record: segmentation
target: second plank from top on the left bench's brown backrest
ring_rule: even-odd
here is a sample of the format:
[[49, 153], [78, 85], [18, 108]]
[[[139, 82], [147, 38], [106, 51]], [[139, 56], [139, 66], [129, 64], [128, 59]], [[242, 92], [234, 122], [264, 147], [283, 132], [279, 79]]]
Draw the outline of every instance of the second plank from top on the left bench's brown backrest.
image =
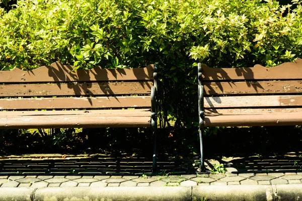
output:
[[153, 82], [2, 84], [0, 97], [150, 94]]

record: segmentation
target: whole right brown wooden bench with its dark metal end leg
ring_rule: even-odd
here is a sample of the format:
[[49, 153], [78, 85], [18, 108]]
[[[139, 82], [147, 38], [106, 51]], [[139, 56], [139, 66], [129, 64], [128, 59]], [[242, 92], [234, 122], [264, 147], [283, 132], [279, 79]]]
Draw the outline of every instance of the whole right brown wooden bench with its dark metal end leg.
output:
[[204, 127], [302, 125], [302, 59], [266, 68], [198, 64], [200, 163]]

